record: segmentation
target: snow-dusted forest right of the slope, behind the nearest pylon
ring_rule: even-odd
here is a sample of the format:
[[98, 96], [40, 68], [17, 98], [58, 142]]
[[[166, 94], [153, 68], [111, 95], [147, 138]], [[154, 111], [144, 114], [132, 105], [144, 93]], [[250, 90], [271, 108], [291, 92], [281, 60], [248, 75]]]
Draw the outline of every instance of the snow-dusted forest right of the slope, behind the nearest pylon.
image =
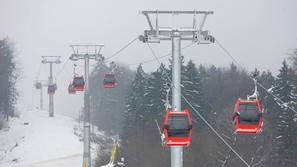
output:
[[[297, 166], [294, 158], [297, 114], [288, 108], [297, 106], [296, 65], [297, 50], [289, 62], [282, 62], [276, 76], [270, 71], [254, 71], [258, 73], [258, 82], [281, 100], [258, 88], [264, 110], [264, 130], [260, 135], [233, 133], [235, 101], [238, 97], [246, 98], [254, 89], [250, 73], [235, 64], [216, 67], [183, 62], [182, 94], [251, 166]], [[107, 71], [106, 65], [98, 65], [92, 83], [98, 83], [102, 78], [99, 76]], [[99, 129], [120, 135], [121, 156], [125, 157], [127, 166], [169, 166], [170, 149], [161, 146], [156, 121], [162, 126], [171, 66], [161, 64], [156, 71], [146, 73], [142, 65], [135, 72], [118, 65], [116, 77], [119, 84], [113, 90], [104, 90], [101, 85], [91, 86], [91, 99], [95, 102], [93, 121]], [[94, 89], [100, 93], [92, 91]], [[190, 109], [194, 121], [191, 145], [184, 149], [185, 166], [245, 166], [185, 100], [182, 100], [182, 108]], [[107, 163], [109, 155], [105, 156], [97, 166]]]

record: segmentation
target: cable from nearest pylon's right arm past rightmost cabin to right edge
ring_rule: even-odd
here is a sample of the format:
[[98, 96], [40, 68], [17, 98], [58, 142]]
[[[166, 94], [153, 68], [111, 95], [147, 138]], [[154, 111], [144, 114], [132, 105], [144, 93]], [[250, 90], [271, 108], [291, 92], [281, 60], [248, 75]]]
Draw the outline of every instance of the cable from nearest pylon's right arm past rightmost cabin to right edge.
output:
[[[216, 43], [218, 44], [218, 46], [239, 66], [243, 69], [243, 66], [230, 54], [230, 52], [216, 39]], [[253, 79], [251, 76], [248, 76], [249, 78]], [[260, 86], [262, 89], [264, 89], [269, 95], [271, 95], [272, 97], [274, 97], [274, 100], [276, 99], [277, 101], [281, 102], [283, 106], [285, 106], [285, 102], [283, 100], [281, 100], [279, 97], [277, 97], [276, 95], [274, 95], [273, 93], [271, 93], [271, 91], [269, 91], [268, 89], [266, 89], [262, 84], [260, 84], [259, 82], [257, 82], [257, 85]], [[275, 101], [276, 101], [275, 100]], [[297, 111], [290, 107], [290, 106], [285, 106], [286, 108], [289, 108], [291, 111], [293, 111], [295, 114], [297, 114]]]

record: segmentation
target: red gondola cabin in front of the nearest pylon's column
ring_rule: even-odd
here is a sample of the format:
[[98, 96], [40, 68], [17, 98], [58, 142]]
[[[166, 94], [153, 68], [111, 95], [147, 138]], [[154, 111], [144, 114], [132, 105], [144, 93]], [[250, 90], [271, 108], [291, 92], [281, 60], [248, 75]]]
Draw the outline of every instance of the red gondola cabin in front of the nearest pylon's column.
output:
[[189, 111], [182, 112], [166, 111], [164, 119], [165, 145], [188, 146], [192, 136], [192, 119]]

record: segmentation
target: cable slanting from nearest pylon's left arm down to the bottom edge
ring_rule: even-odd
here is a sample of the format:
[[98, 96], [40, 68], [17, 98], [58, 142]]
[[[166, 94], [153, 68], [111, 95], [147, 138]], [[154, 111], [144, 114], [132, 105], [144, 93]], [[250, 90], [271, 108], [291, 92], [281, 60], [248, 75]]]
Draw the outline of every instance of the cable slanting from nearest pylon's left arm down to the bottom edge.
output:
[[[151, 46], [149, 45], [149, 43], [147, 43], [152, 55], [155, 57], [156, 61], [161, 65], [160, 60], [158, 59], [158, 57], [156, 56], [154, 50], [151, 48]], [[171, 79], [169, 78], [169, 76], [167, 75], [167, 73], [165, 73], [167, 79], [169, 81], [171, 81]], [[175, 87], [173, 87], [175, 89]], [[237, 151], [235, 149], [232, 148], [231, 145], [228, 144], [228, 142], [208, 123], [208, 121], [200, 114], [200, 112], [198, 110], [196, 110], [196, 108], [188, 101], [188, 99], [181, 94], [182, 98], [186, 101], [186, 103], [195, 111], [195, 113], [200, 117], [200, 119], [217, 135], [217, 137], [219, 139], [221, 139], [223, 141], [223, 143], [247, 166], [250, 167], [250, 165], [247, 163], [247, 161], [245, 161], [241, 155], [239, 155], [239, 153], [237, 153]]]

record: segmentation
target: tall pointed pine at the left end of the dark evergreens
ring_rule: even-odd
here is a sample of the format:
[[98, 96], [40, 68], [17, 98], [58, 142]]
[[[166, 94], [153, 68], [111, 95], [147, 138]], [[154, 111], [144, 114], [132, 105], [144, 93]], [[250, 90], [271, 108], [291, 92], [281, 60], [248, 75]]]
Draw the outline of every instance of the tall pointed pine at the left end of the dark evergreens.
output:
[[136, 70], [134, 80], [128, 92], [126, 101], [126, 111], [124, 116], [124, 127], [122, 132], [123, 152], [126, 160], [140, 165], [141, 159], [135, 159], [141, 154], [141, 142], [145, 131], [144, 127], [144, 109], [145, 109], [145, 87], [148, 75], [143, 71], [142, 65]]

